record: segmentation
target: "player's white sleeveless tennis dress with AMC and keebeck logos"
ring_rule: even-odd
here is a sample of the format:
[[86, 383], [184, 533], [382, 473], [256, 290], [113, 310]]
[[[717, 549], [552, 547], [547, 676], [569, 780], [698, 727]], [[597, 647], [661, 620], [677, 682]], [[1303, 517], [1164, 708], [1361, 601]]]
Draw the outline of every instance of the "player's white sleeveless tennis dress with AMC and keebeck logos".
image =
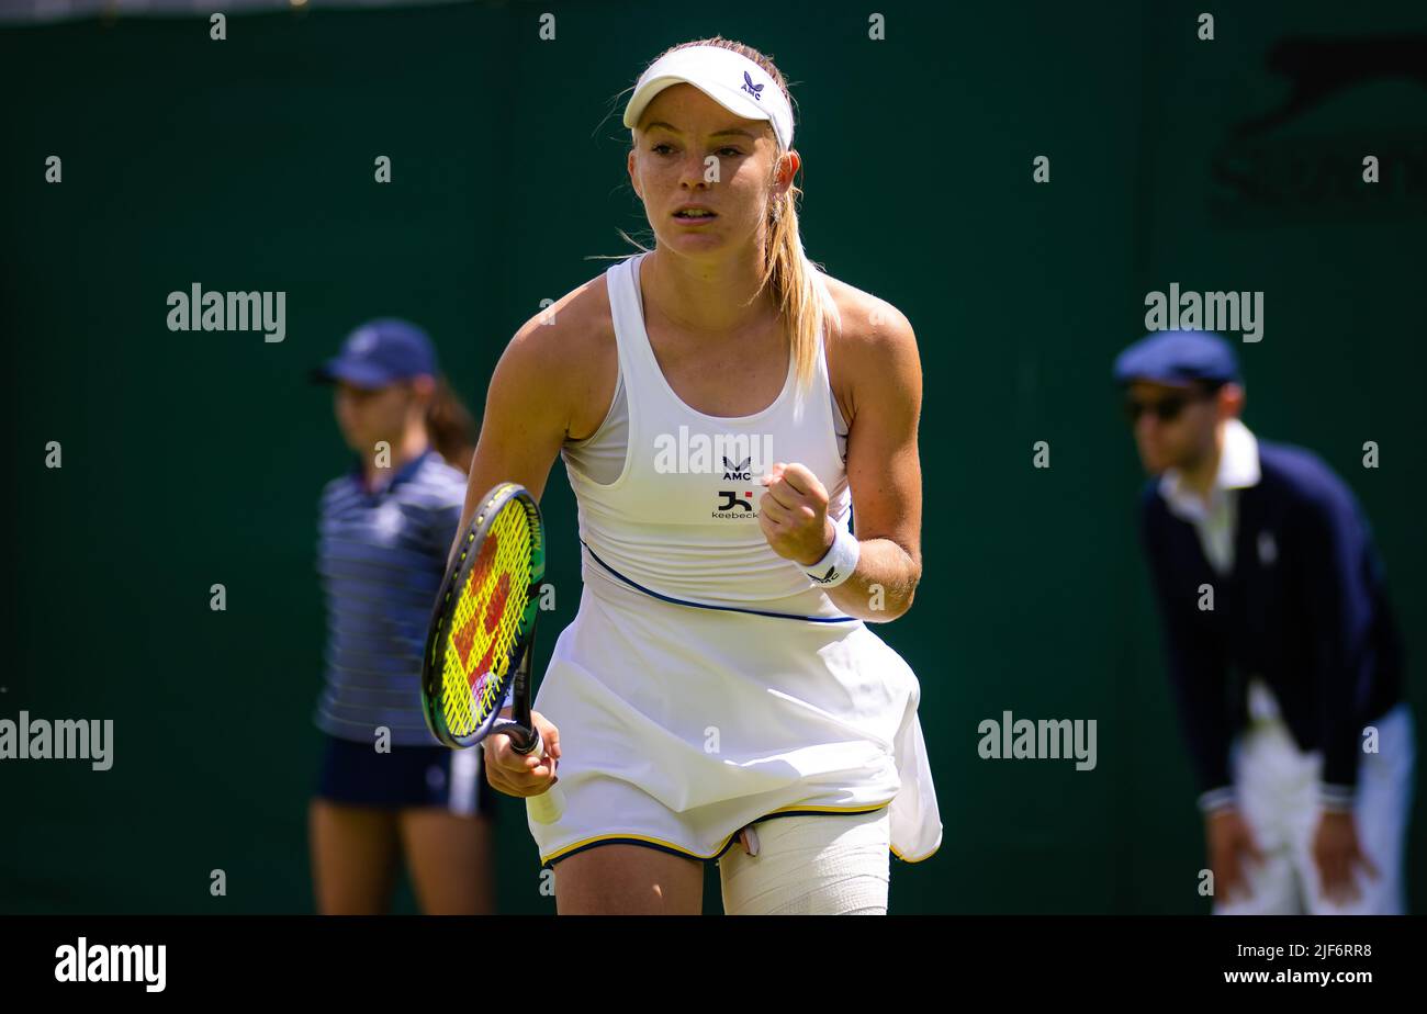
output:
[[748, 416], [698, 412], [659, 369], [639, 294], [644, 254], [605, 272], [624, 388], [626, 452], [592, 481], [561, 455], [579, 508], [579, 610], [552, 650], [535, 709], [559, 729], [565, 811], [531, 819], [541, 863], [602, 843], [691, 859], [786, 814], [889, 809], [906, 861], [940, 846], [936, 792], [906, 662], [842, 613], [758, 523], [758, 476], [802, 462], [842, 526], [850, 493], [822, 341], [798, 389]]

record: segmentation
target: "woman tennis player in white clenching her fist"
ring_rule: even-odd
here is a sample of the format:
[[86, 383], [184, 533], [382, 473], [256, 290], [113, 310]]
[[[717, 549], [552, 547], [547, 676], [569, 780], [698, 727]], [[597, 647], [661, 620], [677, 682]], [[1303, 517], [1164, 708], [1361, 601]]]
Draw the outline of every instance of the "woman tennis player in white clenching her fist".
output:
[[678, 46], [624, 124], [655, 247], [515, 334], [472, 464], [462, 529], [559, 452], [582, 543], [535, 699], [554, 760], [492, 736], [488, 779], [558, 770], [564, 814], [529, 827], [561, 914], [698, 914], [712, 860], [731, 914], [885, 913], [889, 849], [942, 833], [918, 680], [866, 626], [922, 575], [915, 337], [805, 255], [766, 57]]

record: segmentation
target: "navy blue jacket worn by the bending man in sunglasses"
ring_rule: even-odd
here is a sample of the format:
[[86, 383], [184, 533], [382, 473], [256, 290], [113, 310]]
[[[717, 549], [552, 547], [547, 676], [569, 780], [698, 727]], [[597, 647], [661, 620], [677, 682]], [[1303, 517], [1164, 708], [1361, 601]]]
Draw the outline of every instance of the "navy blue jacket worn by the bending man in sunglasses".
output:
[[[1401, 649], [1361, 508], [1314, 454], [1259, 441], [1260, 481], [1237, 491], [1234, 569], [1220, 576], [1194, 526], [1152, 479], [1140, 535], [1200, 792], [1232, 784], [1247, 677], [1279, 700], [1299, 747], [1323, 750], [1323, 789], [1351, 800], [1363, 726], [1401, 699]], [[1200, 585], [1214, 589], [1202, 610]]]

